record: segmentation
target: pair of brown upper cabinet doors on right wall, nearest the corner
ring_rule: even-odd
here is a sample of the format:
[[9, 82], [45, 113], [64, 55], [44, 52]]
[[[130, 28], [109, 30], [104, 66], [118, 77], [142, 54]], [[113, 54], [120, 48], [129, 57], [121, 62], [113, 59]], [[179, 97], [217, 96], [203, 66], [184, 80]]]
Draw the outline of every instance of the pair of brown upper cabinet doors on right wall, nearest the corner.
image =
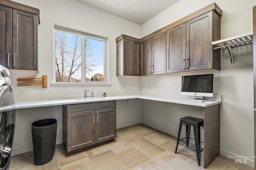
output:
[[166, 32], [141, 43], [140, 75], [166, 73]]

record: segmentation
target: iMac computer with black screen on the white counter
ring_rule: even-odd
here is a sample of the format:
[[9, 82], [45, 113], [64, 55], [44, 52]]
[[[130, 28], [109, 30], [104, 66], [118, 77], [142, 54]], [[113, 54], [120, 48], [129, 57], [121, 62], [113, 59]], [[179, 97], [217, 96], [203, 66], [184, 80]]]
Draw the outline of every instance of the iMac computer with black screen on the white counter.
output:
[[204, 97], [212, 97], [213, 74], [182, 76], [181, 94], [195, 96], [201, 100]]

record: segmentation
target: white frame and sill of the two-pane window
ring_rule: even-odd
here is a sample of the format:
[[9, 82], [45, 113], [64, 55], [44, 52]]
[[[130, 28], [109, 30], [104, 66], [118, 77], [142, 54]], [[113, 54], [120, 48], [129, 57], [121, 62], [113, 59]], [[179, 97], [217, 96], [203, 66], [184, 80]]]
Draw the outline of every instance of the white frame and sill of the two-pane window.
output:
[[[104, 42], [104, 81], [85, 81], [85, 66], [82, 64], [81, 68], [81, 81], [82, 82], [56, 82], [56, 36], [55, 36], [55, 31], [61, 31], [65, 33], [71, 33], [75, 35], [80, 35], [82, 36], [82, 44], [84, 44], [85, 38], [90, 38], [90, 39], [96, 39]], [[85, 58], [85, 46], [82, 45], [82, 63], [84, 63], [84, 58]], [[54, 25], [54, 80], [53, 83], [51, 83], [53, 86], [69, 86], [69, 85], [76, 85], [76, 86], [83, 86], [83, 85], [108, 85], [108, 38], [98, 36], [98, 35], [93, 35], [90, 33], [85, 33], [83, 31], [78, 31], [75, 29], [71, 29], [68, 27], [62, 27], [59, 25]]]

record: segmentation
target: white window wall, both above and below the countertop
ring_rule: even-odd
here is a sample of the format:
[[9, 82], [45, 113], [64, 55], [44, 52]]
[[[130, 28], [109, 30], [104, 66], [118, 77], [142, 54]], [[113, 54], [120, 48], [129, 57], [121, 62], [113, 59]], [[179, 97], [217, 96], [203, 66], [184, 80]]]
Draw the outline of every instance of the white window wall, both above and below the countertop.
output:
[[[12, 86], [17, 100], [43, 100], [51, 98], [82, 97], [88, 88], [94, 96], [106, 92], [108, 96], [140, 92], [140, 78], [116, 76], [116, 37], [126, 34], [140, 37], [136, 23], [103, 12], [76, 0], [14, 0], [40, 10], [39, 73], [11, 71]], [[54, 74], [54, 23], [108, 37], [109, 83], [111, 86], [51, 86]], [[48, 76], [48, 88], [40, 86], [17, 87], [17, 78]], [[127, 88], [130, 84], [130, 88]], [[90, 93], [89, 93], [90, 94]], [[121, 109], [126, 108], [126, 109]], [[117, 127], [140, 123], [140, 101], [117, 102]], [[31, 123], [45, 118], [58, 120], [57, 141], [62, 143], [62, 107], [37, 107], [16, 110], [16, 131], [12, 154], [32, 150]]]

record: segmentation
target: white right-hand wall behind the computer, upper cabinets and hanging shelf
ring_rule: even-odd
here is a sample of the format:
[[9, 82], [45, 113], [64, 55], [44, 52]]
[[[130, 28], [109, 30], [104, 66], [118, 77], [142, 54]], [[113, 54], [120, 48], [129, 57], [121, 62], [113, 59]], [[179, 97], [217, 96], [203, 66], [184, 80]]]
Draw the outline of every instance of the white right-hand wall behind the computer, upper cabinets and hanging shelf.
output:
[[[152, 33], [208, 4], [214, 0], [181, 0], [158, 16], [142, 25], [142, 37]], [[222, 9], [221, 39], [240, 35], [252, 31], [252, 7], [256, 1], [215, 0]], [[252, 45], [237, 47], [232, 50], [234, 64], [228, 61], [227, 51], [221, 52], [221, 71], [204, 73], [214, 74], [214, 94], [222, 95], [220, 109], [220, 154], [224, 156], [254, 156], [254, 111], [253, 111], [253, 53]], [[168, 95], [180, 92], [181, 76], [154, 76], [141, 78], [143, 93]], [[178, 121], [184, 116], [184, 109], [175, 110], [168, 105], [154, 102], [157, 109], [150, 109], [152, 102], [142, 101], [142, 123], [147, 123], [167, 133], [178, 133]], [[172, 105], [173, 106], [173, 105]], [[190, 108], [187, 114], [196, 114]], [[178, 114], [179, 113], [179, 114]], [[152, 115], [148, 117], [148, 115]], [[157, 118], [155, 116], [157, 115]], [[170, 115], [173, 115], [170, 117]], [[169, 117], [170, 123], [163, 118]], [[174, 123], [173, 123], [174, 122]], [[174, 124], [174, 125], [173, 125]], [[254, 160], [247, 160], [247, 164], [254, 166]]]

